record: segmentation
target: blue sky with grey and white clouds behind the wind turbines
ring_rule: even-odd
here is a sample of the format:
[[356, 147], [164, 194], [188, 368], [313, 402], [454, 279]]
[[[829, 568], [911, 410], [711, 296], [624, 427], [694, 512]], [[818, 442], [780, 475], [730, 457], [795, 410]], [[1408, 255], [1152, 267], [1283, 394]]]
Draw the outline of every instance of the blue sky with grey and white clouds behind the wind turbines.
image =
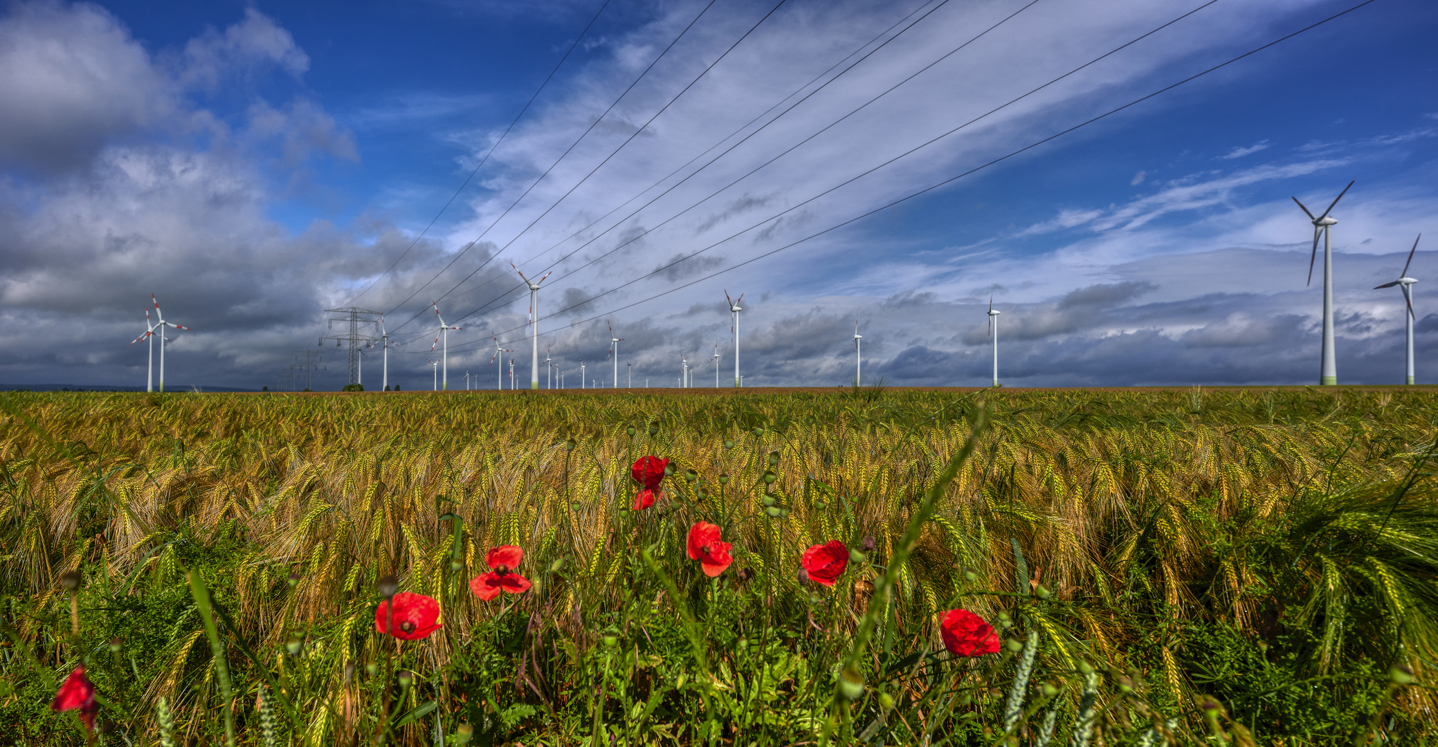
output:
[[1359, 3], [10, 3], [0, 385], [158, 379], [154, 294], [167, 388], [338, 389], [344, 307], [367, 389], [525, 386], [516, 267], [541, 386], [732, 386], [726, 293], [746, 386], [986, 385], [991, 305], [1008, 386], [1316, 384], [1350, 181], [1339, 382], [1426, 233], [1438, 384], [1438, 6]]

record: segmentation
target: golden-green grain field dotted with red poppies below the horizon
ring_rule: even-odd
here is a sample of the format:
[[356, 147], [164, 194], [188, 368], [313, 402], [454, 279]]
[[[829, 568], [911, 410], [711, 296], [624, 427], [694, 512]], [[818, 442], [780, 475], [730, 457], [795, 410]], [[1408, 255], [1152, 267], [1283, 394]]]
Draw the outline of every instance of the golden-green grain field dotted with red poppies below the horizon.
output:
[[1426, 389], [0, 408], [0, 744], [1438, 741]]

